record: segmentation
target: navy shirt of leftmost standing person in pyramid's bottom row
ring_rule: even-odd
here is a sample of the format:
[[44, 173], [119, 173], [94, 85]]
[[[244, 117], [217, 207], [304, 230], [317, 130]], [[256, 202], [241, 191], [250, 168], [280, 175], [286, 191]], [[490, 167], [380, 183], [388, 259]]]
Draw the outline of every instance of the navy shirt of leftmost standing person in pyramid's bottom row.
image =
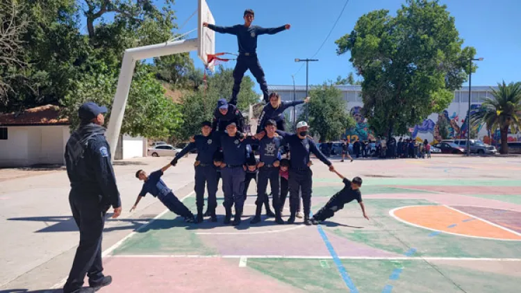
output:
[[195, 142], [190, 142], [182, 151], [176, 154], [172, 165], [175, 165], [177, 160], [183, 158], [185, 154], [193, 149], [197, 149], [197, 158], [201, 164], [213, 165], [213, 154], [220, 148], [220, 133], [210, 133], [208, 136], [195, 135]]

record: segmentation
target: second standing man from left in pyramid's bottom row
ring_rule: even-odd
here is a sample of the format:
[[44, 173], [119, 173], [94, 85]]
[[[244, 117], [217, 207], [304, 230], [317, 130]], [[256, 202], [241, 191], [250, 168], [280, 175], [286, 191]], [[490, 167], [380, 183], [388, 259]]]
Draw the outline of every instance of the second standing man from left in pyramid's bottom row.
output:
[[235, 123], [226, 126], [227, 133], [221, 135], [222, 153], [225, 167], [222, 168], [222, 187], [224, 189], [224, 210], [226, 217], [224, 224], [231, 221], [231, 208], [235, 203], [235, 218], [233, 226], [240, 224], [240, 217], [245, 204], [245, 169], [246, 145], [254, 142], [251, 138], [244, 138], [237, 132]]

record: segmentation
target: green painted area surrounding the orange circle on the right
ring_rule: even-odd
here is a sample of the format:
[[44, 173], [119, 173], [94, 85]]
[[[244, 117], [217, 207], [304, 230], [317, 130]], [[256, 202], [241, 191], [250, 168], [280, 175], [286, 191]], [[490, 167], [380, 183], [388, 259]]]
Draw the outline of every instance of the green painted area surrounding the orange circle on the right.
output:
[[429, 237], [433, 231], [402, 223], [389, 215], [390, 210], [400, 206], [433, 205], [427, 200], [365, 199], [364, 202], [371, 221], [361, 218], [360, 208], [356, 204], [346, 205], [344, 210], [331, 219], [333, 222], [364, 228], [325, 226], [324, 230], [393, 253], [402, 254], [415, 248], [417, 252], [414, 256], [521, 258], [521, 242], [518, 241], [486, 240], [446, 233]]

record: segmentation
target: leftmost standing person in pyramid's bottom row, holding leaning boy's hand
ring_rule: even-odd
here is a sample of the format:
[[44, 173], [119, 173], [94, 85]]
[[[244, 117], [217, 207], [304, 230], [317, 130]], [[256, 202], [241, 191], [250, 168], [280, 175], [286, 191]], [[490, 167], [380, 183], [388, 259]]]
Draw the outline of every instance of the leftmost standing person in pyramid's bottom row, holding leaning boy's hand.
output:
[[211, 221], [217, 221], [215, 208], [217, 208], [217, 170], [213, 166], [213, 155], [220, 148], [220, 136], [212, 133], [211, 124], [205, 121], [201, 124], [202, 135], [195, 135], [195, 142], [190, 142], [182, 151], [176, 154], [172, 165], [176, 165], [180, 158], [192, 149], [197, 149], [195, 166], [195, 200], [197, 203], [197, 223], [203, 221], [204, 185], [208, 190], [208, 214]]

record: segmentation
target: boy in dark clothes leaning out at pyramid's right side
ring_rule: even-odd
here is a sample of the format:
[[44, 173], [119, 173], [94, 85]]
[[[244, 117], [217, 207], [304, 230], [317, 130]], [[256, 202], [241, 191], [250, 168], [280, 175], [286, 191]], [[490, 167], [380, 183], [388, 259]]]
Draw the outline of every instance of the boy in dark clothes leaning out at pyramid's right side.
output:
[[335, 212], [342, 210], [346, 203], [349, 203], [356, 199], [362, 208], [363, 217], [365, 219], [369, 219], [367, 214], [365, 213], [365, 206], [362, 201], [362, 194], [360, 192], [360, 187], [362, 186], [362, 178], [355, 177], [352, 181], [342, 176], [342, 174], [338, 173], [338, 171], [333, 170], [345, 184], [345, 187], [342, 188], [339, 192], [334, 194], [331, 199], [326, 203], [324, 207], [322, 207], [311, 219], [313, 224], [319, 224], [320, 221], [324, 221], [325, 219], [329, 219], [335, 215]]

